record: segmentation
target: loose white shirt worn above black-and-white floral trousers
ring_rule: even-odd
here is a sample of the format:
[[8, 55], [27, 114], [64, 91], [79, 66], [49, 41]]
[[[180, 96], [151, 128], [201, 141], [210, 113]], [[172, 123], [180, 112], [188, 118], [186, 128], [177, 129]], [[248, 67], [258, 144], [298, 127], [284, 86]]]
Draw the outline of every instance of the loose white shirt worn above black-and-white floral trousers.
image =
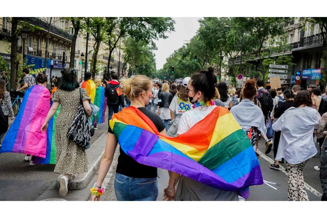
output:
[[320, 114], [311, 107], [291, 107], [272, 125], [282, 131], [275, 160], [284, 158], [290, 164], [299, 164], [317, 154], [313, 131], [318, 128]]

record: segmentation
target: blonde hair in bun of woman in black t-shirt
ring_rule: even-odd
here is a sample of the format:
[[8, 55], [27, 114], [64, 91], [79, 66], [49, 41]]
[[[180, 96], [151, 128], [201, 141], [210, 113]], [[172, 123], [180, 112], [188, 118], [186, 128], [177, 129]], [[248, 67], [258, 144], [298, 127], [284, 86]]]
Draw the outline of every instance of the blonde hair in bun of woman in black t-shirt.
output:
[[145, 75], [136, 75], [132, 79], [123, 77], [120, 82], [120, 90], [129, 99], [138, 99], [142, 92], [152, 89], [152, 82]]

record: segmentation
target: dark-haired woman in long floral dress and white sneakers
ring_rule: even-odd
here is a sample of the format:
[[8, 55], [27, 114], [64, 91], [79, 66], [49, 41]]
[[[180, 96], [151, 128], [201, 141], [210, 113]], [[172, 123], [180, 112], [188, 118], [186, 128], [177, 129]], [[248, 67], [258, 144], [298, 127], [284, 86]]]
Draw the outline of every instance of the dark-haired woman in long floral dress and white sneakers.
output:
[[[83, 106], [89, 117], [92, 109], [90, 107], [91, 98], [86, 89], [83, 91]], [[64, 175], [60, 178], [60, 196], [66, 196], [68, 192], [68, 181], [73, 179], [75, 174], [87, 172], [87, 158], [85, 150], [73, 141], [67, 139], [68, 128], [71, 125], [75, 113], [77, 112], [80, 100], [79, 82], [76, 71], [68, 71], [62, 75], [59, 89], [52, 98], [53, 104], [46, 120], [42, 126], [42, 131], [48, 128], [48, 122], [57, 111], [60, 105], [60, 113], [56, 122], [56, 167], [54, 172]]]

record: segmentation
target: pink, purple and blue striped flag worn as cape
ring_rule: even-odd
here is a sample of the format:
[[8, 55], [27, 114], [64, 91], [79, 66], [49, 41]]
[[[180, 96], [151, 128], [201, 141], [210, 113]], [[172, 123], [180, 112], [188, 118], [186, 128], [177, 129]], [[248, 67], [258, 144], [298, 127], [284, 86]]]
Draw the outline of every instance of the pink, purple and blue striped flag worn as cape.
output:
[[24, 95], [17, 117], [10, 126], [0, 153], [13, 152], [46, 157], [47, 133], [41, 127], [50, 109], [49, 90], [34, 85]]

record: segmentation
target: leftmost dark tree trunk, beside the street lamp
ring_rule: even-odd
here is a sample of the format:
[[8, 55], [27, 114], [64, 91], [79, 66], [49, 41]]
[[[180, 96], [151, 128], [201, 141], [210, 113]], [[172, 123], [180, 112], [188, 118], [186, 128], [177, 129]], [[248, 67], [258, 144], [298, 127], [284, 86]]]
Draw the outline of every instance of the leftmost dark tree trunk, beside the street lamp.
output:
[[[17, 25], [18, 17], [12, 17], [11, 21], [11, 53], [10, 53], [10, 89], [16, 89], [16, 59], [17, 59]], [[24, 50], [24, 49], [23, 49]], [[23, 54], [24, 58], [24, 54]], [[23, 60], [24, 61], [24, 60]]]

